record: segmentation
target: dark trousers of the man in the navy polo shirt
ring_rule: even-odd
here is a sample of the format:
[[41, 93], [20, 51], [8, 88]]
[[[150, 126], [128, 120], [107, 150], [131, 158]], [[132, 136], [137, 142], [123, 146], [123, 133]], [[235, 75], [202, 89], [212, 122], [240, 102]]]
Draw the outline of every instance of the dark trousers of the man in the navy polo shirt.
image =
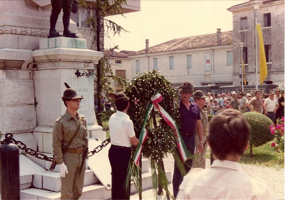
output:
[[[188, 151], [191, 154], [194, 154], [194, 151], [195, 151], [195, 134], [193, 134], [193, 136], [182, 135], [181, 137], [182, 137]], [[192, 162], [193, 162], [193, 160], [190, 159], [190, 160], [186, 161], [187, 164], [184, 163], [184, 167], [186, 169], [186, 174], [190, 171], [190, 169], [192, 167]], [[182, 183], [182, 180], [183, 180], [183, 176], [181, 175], [181, 173], [177, 167], [176, 162], [174, 162], [174, 172], [173, 172], [172, 185], [173, 185], [173, 196], [175, 198], [177, 196], [179, 186]]]

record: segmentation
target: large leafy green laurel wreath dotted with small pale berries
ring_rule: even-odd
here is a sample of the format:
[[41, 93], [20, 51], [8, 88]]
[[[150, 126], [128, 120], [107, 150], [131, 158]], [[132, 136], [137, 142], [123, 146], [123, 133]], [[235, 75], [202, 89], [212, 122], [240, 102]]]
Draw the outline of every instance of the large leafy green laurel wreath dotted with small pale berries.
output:
[[[180, 123], [177, 99], [175, 98], [174, 89], [171, 88], [170, 80], [159, 74], [157, 70], [139, 74], [125, 90], [125, 94], [130, 98], [128, 114], [134, 123], [137, 138], [139, 138], [141, 126], [146, 116], [147, 106], [151, 102], [150, 98], [157, 93], [160, 93], [163, 97], [163, 100], [159, 103], [160, 106], [168, 112], [177, 124]], [[133, 101], [134, 98], [139, 99], [137, 105]], [[142, 154], [146, 158], [158, 161], [167, 153], [173, 153], [176, 148], [176, 138], [174, 130], [166, 124], [164, 119], [160, 119], [157, 126], [151, 127], [153, 118], [153, 114], [151, 114], [146, 122], [148, 137], [144, 143], [147, 145], [144, 145]]]

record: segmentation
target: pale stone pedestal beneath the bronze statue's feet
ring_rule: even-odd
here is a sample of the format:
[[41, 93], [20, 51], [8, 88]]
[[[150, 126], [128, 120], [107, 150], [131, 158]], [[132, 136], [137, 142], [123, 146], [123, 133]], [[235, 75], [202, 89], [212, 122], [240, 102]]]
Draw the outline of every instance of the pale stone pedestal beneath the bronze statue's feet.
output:
[[[33, 135], [38, 150], [52, 153], [52, 129], [55, 120], [65, 113], [61, 99], [66, 82], [84, 99], [78, 113], [86, 117], [89, 137], [103, 137], [94, 112], [94, 64], [103, 52], [86, 49], [85, 39], [57, 37], [40, 41], [40, 49], [32, 52], [38, 70], [34, 72], [37, 127]], [[75, 74], [77, 70], [84, 76]], [[41, 142], [42, 141], [42, 142]]]

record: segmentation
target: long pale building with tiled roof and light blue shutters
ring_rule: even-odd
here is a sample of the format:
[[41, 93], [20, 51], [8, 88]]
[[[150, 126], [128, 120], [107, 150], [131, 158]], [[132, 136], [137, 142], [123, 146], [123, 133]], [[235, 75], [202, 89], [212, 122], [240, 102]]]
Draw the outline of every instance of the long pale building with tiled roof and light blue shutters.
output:
[[132, 77], [157, 69], [170, 78], [172, 87], [184, 81], [200, 85], [233, 84], [233, 32], [179, 38], [129, 54]]

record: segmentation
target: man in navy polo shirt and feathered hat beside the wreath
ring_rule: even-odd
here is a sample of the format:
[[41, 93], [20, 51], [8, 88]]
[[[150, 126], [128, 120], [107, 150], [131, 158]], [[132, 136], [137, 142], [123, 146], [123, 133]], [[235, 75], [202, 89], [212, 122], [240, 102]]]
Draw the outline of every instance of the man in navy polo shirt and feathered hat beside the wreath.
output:
[[[194, 154], [195, 152], [195, 129], [197, 130], [197, 135], [199, 137], [199, 145], [197, 152], [203, 151], [203, 128], [201, 124], [200, 110], [199, 106], [190, 102], [190, 97], [193, 93], [193, 86], [189, 81], [185, 81], [180, 87], [179, 92], [181, 99], [179, 100], [179, 112], [181, 115], [182, 126], [179, 131], [181, 137], [190, 153]], [[192, 159], [189, 159], [184, 163], [186, 173], [192, 167]], [[188, 166], [189, 165], [189, 166]], [[174, 162], [174, 172], [173, 172], [173, 195], [176, 197], [179, 185], [182, 183], [183, 176], [181, 175], [176, 162]]]

